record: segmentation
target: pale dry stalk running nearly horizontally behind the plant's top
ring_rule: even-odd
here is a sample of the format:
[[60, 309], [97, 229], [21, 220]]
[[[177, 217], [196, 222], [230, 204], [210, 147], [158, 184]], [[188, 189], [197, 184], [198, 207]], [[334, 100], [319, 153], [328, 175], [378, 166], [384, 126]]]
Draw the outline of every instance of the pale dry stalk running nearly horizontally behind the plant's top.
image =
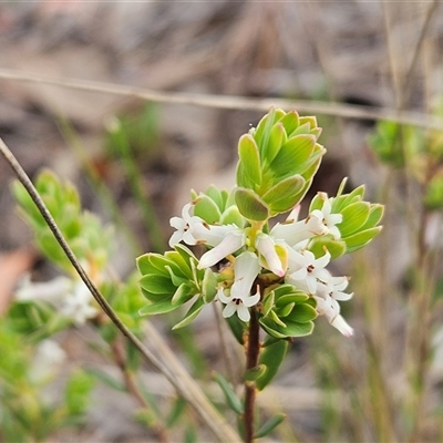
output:
[[50, 79], [47, 76], [27, 73], [16, 70], [0, 69], [0, 79], [13, 81], [48, 84], [52, 86], [69, 87], [105, 94], [133, 96], [159, 103], [189, 104], [195, 106], [217, 107], [225, 110], [253, 110], [269, 111], [270, 107], [284, 110], [297, 110], [303, 113], [336, 115], [357, 120], [388, 120], [400, 124], [426, 127], [431, 130], [443, 130], [443, 119], [434, 115], [396, 112], [395, 110], [375, 106], [358, 106], [341, 103], [315, 102], [285, 99], [249, 99], [234, 95], [192, 94], [184, 92], [162, 92], [145, 87], [127, 86], [114, 83], [92, 82], [76, 79]]

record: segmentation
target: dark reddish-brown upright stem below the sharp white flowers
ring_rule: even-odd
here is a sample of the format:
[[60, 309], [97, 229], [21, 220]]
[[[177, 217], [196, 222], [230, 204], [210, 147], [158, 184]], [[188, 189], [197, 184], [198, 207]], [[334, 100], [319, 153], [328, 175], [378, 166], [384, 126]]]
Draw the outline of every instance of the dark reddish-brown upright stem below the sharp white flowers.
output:
[[[259, 323], [257, 312], [255, 309], [250, 310], [249, 320], [249, 337], [246, 351], [246, 370], [253, 369], [258, 364], [258, 354], [260, 352], [260, 337]], [[255, 423], [255, 402], [256, 402], [256, 385], [254, 382], [245, 382], [245, 442], [254, 442], [254, 423]]]

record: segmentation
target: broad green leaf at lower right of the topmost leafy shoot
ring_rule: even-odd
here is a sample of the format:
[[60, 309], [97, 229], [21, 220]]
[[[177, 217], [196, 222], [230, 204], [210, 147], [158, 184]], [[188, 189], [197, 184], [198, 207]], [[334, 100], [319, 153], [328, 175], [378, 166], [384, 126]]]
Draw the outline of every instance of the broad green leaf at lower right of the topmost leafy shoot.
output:
[[297, 205], [299, 193], [305, 183], [301, 175], [293, 175], [277, 183], [261, 198], [274, 214], [286, 213]]

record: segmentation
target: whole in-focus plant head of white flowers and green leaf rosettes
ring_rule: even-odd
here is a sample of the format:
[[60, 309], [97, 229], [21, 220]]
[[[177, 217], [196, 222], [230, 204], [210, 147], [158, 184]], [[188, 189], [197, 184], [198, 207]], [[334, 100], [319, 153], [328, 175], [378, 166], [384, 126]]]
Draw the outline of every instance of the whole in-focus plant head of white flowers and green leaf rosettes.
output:
[[[339, 305], [352, 297], [346, 292], [349, 278], [332, 276], [327, 266], [380, 233], [383, 207], [363, 200], [364, 186], [344, 194], [344, 179], [336, 196], [318, 193], [299, 219], [326, 153], [320, 133], [315, 117], [271, 110], [240, 137], [233, 190], [193, 190], [182, 217], [171, 219], [174, 250], [138, 257], [147, 299], [142, 315], [193, 300], [174, 327], [181, 328], [216, 299], [239, 342], [253, 315], [271, 341], [310, 334], [318, 316], [352, 336]], [[288, 213], [285, 222], [274, 222]], [[185, 245], [206, 250], [197, 258]]]

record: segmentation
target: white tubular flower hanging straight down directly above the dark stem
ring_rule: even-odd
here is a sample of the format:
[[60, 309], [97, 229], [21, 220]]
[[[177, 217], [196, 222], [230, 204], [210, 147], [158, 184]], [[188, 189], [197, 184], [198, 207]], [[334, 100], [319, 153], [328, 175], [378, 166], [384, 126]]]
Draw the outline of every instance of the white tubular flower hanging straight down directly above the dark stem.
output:
[[230, 295], [226, 296], [225, 290], [220, 288], [217, 292], [218, 299], [225, 303], [223, 317], [227, 318], [235, 312], [243, 321], [249, 321], [250, 313], [248, 308], [255, 306], [260, 300], [260, 293], [257, 291], [250, 295], [254, 280], [260, 270], [258, 257], [249, 251], [240, 254], [234, 264], [234, 285], [230, 288]]

